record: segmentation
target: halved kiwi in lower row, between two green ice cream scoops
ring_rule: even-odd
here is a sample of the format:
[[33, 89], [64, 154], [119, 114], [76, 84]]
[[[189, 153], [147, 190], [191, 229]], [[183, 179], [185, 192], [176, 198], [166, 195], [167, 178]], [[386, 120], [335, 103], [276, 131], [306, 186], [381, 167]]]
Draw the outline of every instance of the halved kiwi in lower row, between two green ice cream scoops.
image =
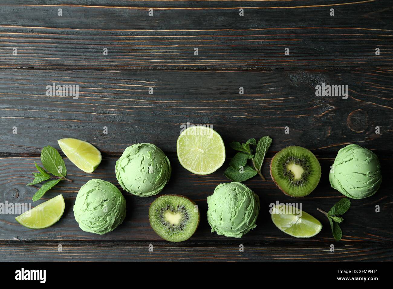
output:
[[199, 218], [195, 202], [179, 195], [158, 197], [149, 208], [149, 221], [154, 232], [171, 242], [185, 241], [193, 236]]

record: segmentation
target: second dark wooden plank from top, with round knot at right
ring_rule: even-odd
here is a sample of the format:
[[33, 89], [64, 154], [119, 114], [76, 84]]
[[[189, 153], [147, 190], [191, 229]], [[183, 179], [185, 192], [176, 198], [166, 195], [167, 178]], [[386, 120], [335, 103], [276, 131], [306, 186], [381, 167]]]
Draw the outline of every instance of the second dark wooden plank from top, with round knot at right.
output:
[[[189, 122], [212, 125], [225, 144], [270, 135], [273, 151], [301, 145], [335, 157], [339, 148], [357, 143], [379, 156], [391, 156], [392, 79], [388, 68], [349, 72], [0, 70], [4, 132], [0, 154], [37, 155], [43, 146], [56, 145], [64, 137], [86, 140], [109, 156], [119, 156], [137, 142], [152, 142], [175, 152], [181, 125]], [[46, 86], [53, 82], [79, 85], [79, 98], [46, 96]], [[315, 96], [315, 86], [322, 83], [348, 85], [348, 99]], [[239, 95], [239, 87], [244, 95]], [[375, 133], [376, 127], [380, 134]]]

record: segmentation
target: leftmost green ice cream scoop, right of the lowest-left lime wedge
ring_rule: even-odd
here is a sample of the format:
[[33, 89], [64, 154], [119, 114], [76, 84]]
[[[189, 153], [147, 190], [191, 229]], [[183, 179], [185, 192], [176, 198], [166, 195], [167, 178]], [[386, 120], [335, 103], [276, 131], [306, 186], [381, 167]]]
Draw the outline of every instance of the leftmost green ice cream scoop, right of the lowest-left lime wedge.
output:
[[119, 226], [125, 217], [125, 199], [116, 186], [100, 179], [86, 182], [73, 206], [75, 220], [85, 232], [106, 234]]

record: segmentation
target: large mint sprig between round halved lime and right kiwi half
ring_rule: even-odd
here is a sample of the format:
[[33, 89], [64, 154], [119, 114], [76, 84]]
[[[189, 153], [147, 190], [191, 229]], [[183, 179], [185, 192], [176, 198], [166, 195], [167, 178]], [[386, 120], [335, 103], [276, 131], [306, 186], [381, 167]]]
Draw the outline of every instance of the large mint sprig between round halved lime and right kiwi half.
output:
[[[262, 163], [268, 151], [272, 139], [269, 136], [261, 138], [257, 144], [255, 138], [250, 138], [245, 144], [231, 142], [229, 145], [237, 153], [229, 162], [229, 168], [224, 171], [224, 175], [234, 182], [243, 182], [259, 174], [262, 180], [266, 181], [261, 173]], [[251, 145], [256, 145], [255, 155]], [[247, 165], [248, 160], [252, 160], [253, 166]]]

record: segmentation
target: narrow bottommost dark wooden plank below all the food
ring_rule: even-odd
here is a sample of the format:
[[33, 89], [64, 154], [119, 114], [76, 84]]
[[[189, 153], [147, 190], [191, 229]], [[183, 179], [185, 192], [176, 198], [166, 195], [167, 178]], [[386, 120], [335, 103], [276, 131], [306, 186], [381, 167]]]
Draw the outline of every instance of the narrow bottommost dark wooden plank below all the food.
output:
[[[62, 251], [59, 252], [59, 245]], [[167, 244], [24, 244], [0, 245], [2, 261], [393, 261], [393, 249], [370, 245], [314, 247], [176, 246]]]

